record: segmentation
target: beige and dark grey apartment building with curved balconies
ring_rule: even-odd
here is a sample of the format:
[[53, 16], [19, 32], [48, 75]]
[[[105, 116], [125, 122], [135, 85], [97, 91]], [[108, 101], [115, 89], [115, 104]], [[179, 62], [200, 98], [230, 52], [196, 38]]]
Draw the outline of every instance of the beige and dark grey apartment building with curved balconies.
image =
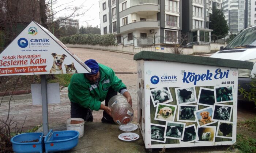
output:
[[200, 35], [209, 38], [212, 31], [207, 18], [211, 9], [206, 13], [204, 0], [99, 0], [99, 9], [101, 34], [117, 34], [117, 42], [123, 37], [126, 44], [134, 38], [156, 36], [159, 39], [148, 43], [176, 43], [173, 40], [178, 41], [181, 32], [190, 38], [196, 35], [200, 41]]

